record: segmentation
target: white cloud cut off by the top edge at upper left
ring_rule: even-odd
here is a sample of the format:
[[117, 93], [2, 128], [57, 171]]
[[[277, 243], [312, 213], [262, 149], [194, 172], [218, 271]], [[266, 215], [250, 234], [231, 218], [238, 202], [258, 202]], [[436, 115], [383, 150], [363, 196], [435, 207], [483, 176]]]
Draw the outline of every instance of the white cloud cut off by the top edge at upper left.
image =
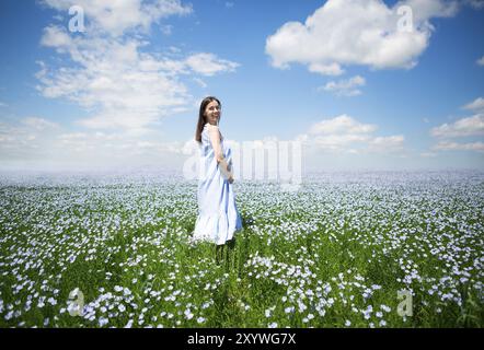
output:
[[147, 32], [152, 23], [171, 15], [186, 15], [193, 12], [192, 5], [184, 5], [180, 0], [43, 0], [46, 5], [67, 12], [70, 7], [78, 5], [84, 11], [89, 21], [87, 33], [110, 34], [120, 36], [129, 31]]

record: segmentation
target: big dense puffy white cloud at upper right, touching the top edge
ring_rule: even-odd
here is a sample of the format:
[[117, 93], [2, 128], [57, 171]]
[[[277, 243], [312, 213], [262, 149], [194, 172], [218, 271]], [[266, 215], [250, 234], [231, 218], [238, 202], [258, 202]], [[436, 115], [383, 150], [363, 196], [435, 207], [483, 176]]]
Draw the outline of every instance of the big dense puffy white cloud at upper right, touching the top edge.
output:
[[[399, 30], [402, 5], [412, 9], [410, 30]], [[408, 69], [429, 44], [429, 20], [457, 10], [457, 1], [408, 0], [389, 8], [379, 0], [329, 0], [304, 23], [285, 23], [267, 37], [265, 50], [276, 68], [299, 62], [322, 74], [341, 74], [345, 65]]]

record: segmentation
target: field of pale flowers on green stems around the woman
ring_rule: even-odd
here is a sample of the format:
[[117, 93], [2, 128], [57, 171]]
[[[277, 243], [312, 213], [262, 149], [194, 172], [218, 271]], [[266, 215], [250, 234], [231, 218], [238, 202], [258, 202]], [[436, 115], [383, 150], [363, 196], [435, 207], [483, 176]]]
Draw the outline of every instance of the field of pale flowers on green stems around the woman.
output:
[[484, 326], [484, 173], [233, 186], [216, 252], [189, 243], [196, 180], [2, 175], [0, 327]]

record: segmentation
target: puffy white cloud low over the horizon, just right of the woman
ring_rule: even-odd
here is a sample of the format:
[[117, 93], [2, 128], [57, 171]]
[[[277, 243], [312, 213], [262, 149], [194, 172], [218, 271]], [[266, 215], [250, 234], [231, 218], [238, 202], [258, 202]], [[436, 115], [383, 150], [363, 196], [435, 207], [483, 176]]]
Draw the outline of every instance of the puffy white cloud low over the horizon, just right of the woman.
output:
[[388, 153], [403, 150], [403, 136], [374, 136], [377, 129], [376, 125], [362, 124], [342, 115], [312, 125], [307, 133], [299, 135], [295, 140], [310, 149], [334, 153]]

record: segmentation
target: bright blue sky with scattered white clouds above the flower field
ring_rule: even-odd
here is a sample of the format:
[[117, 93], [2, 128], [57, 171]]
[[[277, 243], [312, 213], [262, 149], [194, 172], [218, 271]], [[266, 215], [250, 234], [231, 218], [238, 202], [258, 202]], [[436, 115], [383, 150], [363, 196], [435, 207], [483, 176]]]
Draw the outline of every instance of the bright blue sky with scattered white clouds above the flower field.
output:
[[110, 3], [0, 2], [0, 168], [180, 168], [206, 95], [308, 170], [484, 168], [483, 1]]

